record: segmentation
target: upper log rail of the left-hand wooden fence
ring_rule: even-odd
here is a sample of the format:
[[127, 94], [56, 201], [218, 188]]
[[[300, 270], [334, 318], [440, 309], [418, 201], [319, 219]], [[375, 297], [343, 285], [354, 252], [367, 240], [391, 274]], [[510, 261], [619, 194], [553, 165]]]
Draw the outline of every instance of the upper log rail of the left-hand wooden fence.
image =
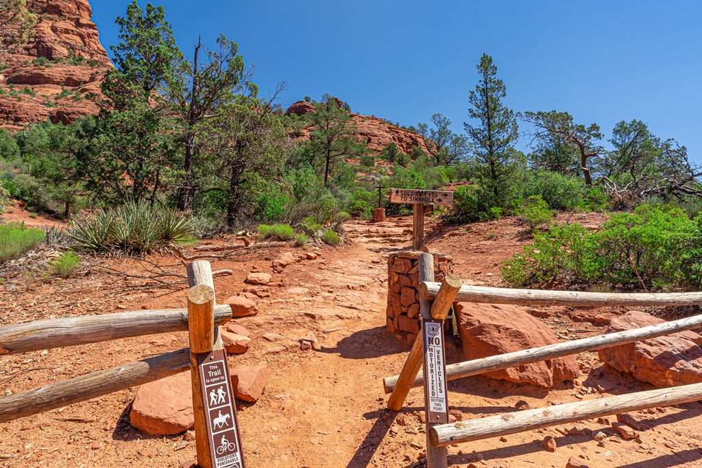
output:
[[[215, 325], [232, 318], [230, 306], [215, 308]], [[187, 308], [54, 318], [0, 328], [0, 354], [27, 353], [147, 334], [187, 331]]]

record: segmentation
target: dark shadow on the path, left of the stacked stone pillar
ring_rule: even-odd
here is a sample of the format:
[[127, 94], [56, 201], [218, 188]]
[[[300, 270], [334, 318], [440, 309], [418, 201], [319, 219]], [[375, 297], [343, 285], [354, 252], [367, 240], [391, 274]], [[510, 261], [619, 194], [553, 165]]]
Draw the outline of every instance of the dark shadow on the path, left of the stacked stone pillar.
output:
[[322, 346], [319, 352], [338, 353], [345, 359], [369, 359], [406, 353], [409, 349], [409, 345], [398, 342], [385, 332], [385, 327], [375, 327], [342, 338], [333, 348]]

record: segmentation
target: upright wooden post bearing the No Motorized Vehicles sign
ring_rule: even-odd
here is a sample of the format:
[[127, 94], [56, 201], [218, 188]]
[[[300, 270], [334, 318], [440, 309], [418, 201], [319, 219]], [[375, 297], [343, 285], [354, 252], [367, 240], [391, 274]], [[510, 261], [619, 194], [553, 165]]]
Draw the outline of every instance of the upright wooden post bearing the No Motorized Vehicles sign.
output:
[[[425, 278], [434, 279], [434, 256], [432, 254], [419, 256], [420, 282], [430, 281]], [[446, 447], [432, 446], [429, 440], [429, 431], [432, 427], [449, 422], [449, 403], [446, 398], [446, 374], [444, 371], [446, 367], [444, 362], [444, 320], [433, 319], [431, 309], [432, 301], [420, 299], [419, 311], [422, 316], [420, 336], [424, 345], [424, 379], [427, 382], [424, 386], [427, 468], [446, 468], [448, 466], [448, 450]], [[436, 339], [439, 341], [435, 341]]]

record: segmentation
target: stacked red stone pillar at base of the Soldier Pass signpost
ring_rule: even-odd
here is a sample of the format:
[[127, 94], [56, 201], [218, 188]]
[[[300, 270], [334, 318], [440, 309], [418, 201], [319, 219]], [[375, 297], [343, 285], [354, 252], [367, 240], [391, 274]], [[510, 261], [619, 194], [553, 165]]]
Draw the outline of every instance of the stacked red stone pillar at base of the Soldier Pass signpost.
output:
[[[420, 330], [419, 314], [419, 256], [418, 250], [399, 252], [388, 256], [388, 333], [403, 343], [412, 344]], [[453, 257], [446, 254], [434, 256], [434, 278], [442, 282], [453, 273]], [[444, 323], [447, 330], [453, 326], [451, 319]]]

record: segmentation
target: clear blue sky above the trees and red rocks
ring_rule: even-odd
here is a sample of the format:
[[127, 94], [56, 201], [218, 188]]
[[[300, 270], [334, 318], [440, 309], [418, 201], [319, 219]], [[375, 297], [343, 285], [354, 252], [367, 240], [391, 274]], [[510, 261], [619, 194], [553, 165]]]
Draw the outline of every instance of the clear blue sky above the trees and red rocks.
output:
[[[91, 2], [108, 53], [129, 3]], [[213, 45], [224, 33], [256, 63], [262, 93], [288, 83], [286, 105], [330, 93], [404, 125], [441, 112], [462, 132], [475, 65], [488, 53], [515, 111], [564, 110], [607, 138], [621, 119], [641, 119], [702, 164], [701, 1], [162, 3], [186, 54], [198, 34]]]

